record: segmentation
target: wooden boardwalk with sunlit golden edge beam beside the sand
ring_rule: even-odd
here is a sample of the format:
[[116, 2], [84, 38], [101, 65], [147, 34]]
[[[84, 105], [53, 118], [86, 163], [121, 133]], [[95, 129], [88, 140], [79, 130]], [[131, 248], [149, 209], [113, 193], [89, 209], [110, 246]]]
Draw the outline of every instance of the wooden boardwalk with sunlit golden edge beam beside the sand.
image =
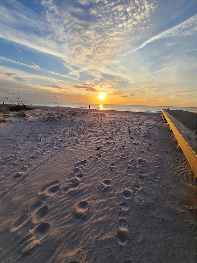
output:
[[173, 131], [181, 148], [197, 176], [197, 114], [183, 110], [162, 110], [162, 118]]

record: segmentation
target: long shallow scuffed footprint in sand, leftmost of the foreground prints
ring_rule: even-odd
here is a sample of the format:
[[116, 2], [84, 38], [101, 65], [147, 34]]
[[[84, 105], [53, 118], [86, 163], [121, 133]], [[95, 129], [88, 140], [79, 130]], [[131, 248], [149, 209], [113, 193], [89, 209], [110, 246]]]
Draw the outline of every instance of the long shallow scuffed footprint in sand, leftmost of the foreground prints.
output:
[[18, 228], [21, 228], [27, 221], [30, 220], [30, 218], [33, 216], [33, 213], [36, 212], [41, 207], [41, 205], [41, 202], [34, 203], [31, 206], [29, 212], [19, 217], [19, 219], [12, 225], [10, 232], [14, 232], [18, 230]]

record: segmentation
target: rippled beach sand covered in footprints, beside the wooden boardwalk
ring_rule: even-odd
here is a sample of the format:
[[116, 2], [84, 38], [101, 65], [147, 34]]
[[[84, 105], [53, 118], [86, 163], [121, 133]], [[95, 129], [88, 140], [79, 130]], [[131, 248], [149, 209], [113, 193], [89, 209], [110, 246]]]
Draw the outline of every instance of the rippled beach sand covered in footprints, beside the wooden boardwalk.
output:
[[0, 262], [196, 262], [196, 177], [158, 113], [1, 126]]

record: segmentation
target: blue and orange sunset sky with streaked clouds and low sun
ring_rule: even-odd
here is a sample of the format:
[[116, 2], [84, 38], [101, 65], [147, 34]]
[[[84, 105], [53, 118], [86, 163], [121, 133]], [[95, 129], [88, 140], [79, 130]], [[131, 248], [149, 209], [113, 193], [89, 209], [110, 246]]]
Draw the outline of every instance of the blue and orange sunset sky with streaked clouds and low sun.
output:
[[196, 4], [0, 1], [0, 100], [196, 107]]

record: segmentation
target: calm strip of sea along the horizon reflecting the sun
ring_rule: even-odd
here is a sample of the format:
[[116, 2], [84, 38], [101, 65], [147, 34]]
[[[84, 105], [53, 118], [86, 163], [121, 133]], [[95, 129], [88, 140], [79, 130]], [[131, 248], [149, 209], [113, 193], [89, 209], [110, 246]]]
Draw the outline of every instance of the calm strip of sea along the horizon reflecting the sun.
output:
[[[9, 101], [4, 101], [5, 104], [10, 104]], [[0, 101], [0, 103], [3, 103]], [[25, 105], [33, 105], [33, 106], [46, 106], [46, 107], [57, 107], [57, 102], [23, 102]], [[16, 103], [17, 104], [17, 103]], [[60, 103], [58, 103], [59, 108], [61, 108]], [[89, 104], [83, 103], [62, 103], [62, 108], [71, 108], [72, 110], [78, 109], [89, 109]], [[162, 109], [175, 109], [175, 110], [197, 110], [192, 107], [169, 107], [169, 106], [136, 106], [136, 105], [111, 105], [111, 104], [90, 104], [90, 109], [99, 109], [99, 110], [119, 110], [119, 111], [135, 111], [135, 112], [154, 112], [161, 113]]]

